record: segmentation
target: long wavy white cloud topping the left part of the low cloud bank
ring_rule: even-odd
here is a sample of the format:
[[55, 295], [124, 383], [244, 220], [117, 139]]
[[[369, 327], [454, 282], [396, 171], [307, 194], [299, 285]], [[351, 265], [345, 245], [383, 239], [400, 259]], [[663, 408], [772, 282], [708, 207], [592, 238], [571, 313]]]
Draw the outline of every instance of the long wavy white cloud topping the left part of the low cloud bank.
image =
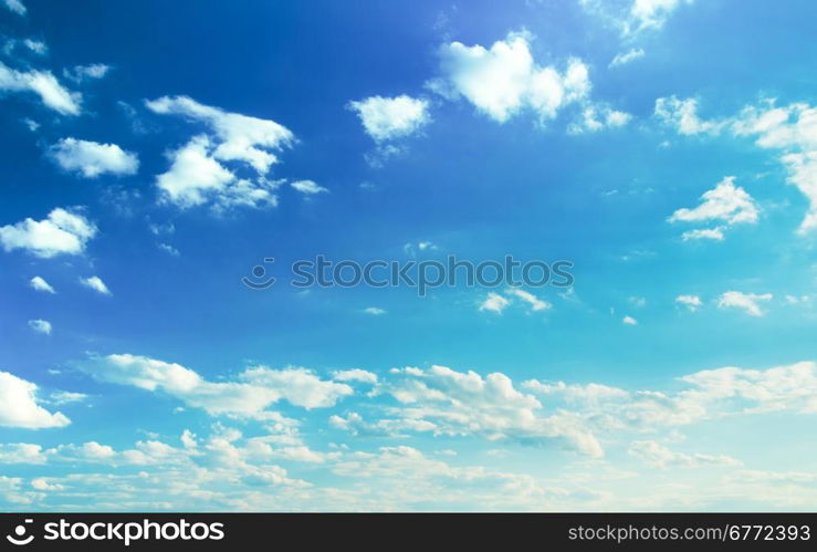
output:
[[346, 384], [321, 379], [300, 367], [256, 366], [242, 372], [237, 381], [214, 383], [180, 364], [130, 354], [93, 357], [80, 366], [102, 382], [160, 390], [211, 415], [275, 419], [280, 415], [266, 407], [277, 400], [307, 409], [324, 408], [354, 393]]

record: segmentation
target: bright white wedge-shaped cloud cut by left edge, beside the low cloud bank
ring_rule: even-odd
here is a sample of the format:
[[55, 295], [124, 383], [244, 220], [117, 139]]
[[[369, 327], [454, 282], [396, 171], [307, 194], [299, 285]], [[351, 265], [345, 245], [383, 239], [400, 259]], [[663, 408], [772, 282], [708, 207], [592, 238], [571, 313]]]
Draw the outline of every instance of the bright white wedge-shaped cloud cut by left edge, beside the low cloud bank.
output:
[[40, 406], [36, 385], [8, 372], [0, 372], [0, 426], [41, 429], [64, 427], [71, 420], [62, 413]]

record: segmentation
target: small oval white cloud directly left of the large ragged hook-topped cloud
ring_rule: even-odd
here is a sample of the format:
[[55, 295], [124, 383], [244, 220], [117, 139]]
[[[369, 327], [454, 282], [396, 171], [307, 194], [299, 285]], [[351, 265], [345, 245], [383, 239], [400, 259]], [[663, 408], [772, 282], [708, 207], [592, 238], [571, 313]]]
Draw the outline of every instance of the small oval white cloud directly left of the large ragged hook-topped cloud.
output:
[[99, 175], [134, 175], [139, 168], [136, 154], [116, 144], [98, 144], [76, 138], [63, 138], [51, 146], [51, 156], [65, 170], [85, 178]]

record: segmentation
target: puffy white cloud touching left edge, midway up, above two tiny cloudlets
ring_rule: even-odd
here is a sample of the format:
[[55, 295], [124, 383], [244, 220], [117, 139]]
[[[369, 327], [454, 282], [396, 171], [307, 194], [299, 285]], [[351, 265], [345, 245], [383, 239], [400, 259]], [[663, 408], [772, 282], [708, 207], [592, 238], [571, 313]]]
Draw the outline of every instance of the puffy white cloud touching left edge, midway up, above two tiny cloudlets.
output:
[[44, 220], [25, 220], [0, 227], [0, 243], [6, 251], [24, 249], [49, 259], [57, 254], [81, 254], [96, 236], [96, 227], [83, 215], [56, 208]]

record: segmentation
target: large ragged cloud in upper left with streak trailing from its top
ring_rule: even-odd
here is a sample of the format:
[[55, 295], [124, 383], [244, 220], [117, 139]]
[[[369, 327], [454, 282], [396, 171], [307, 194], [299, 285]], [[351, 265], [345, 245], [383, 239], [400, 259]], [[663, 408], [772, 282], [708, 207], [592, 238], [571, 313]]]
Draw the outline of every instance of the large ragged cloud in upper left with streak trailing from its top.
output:
[[[265, 175], [279, 162], [275, 153], [295, 142], [292, 132], [274, 121], [229, 113], [187, 96], [164, 96], [146, 105], [154, 113], [178, 115], [209, 131], [168, 154], [171, 166], [156, 178], [165, 201], [181, 208], [211, 202], [217, 212], [277, 205], [274, 191], [281, 183]], [[247, 177], [237, 173], [248, 169]]]

